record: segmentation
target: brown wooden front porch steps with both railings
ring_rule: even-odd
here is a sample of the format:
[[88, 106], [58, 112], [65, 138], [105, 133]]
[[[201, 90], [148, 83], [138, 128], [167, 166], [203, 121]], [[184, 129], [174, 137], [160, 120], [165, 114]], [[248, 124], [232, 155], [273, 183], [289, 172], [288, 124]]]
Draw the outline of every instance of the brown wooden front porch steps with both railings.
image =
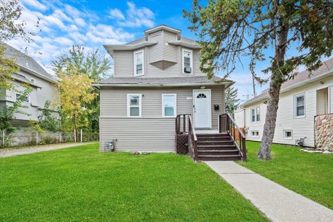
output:
[[189, 154], [194, 161], [246, 161], [245, 135], [229, 114], [219, 115], [219, 130], [196, 129], [191, 114], [179, 114], [175, 142], [176, 153]]

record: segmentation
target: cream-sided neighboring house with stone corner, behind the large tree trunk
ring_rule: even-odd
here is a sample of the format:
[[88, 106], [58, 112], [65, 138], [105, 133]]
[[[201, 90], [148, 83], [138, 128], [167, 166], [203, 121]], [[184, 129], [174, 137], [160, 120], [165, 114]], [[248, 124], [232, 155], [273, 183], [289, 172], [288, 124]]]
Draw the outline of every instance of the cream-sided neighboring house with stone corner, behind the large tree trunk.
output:
[[[261, 141], [267, 100], [265, 90], [237, 110], [235, 119], [239, 127], [246, 129], [246, 139]], [[332, 113], [333, 58], [323, 62], [311, 75], [302, 71], [282, 85], [273, 142], [295, 145], [302, 138], [305, 146], [333, 148]], [[321, 119], [325, 119], [325, 124]], [[332, 144], [323, 143], [325, 140]]]

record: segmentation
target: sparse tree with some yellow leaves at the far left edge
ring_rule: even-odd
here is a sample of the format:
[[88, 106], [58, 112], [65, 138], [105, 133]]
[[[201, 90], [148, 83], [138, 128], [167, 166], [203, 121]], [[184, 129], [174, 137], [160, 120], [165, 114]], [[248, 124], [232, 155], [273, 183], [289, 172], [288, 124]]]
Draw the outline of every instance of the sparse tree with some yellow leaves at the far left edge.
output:
[[26, 22], [19, 22], [21, 15], [22, 6], [18, 0], [0, 0], [0, 89], [13, 89], [11, 75], [19, 71], [14, 58], [6, 58], [3, 42], [17, 38], [30, 42], [34, 35], [26, 31]]

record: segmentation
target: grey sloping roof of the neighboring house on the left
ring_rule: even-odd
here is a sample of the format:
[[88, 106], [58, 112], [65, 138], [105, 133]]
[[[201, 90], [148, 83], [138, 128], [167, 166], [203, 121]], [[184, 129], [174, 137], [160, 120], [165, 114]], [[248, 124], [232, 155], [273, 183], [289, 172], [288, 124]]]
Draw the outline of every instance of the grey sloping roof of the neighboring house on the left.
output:
[[25, 53], [22, 53], [22, 51], [19, 51], [6, 43], [3, 43], [3, 45], [6, 47], [4, 56], [6, 58], [13, 58], [21, 69], [31, 71], [34, 74], [38, 74], [40, 76], [55, 81], [51, 74], [49, 74], [45, 69], [43, 69], [43, 67], [39, 65], [38, 62], [36, 62], [33, 58], [27, 56]]

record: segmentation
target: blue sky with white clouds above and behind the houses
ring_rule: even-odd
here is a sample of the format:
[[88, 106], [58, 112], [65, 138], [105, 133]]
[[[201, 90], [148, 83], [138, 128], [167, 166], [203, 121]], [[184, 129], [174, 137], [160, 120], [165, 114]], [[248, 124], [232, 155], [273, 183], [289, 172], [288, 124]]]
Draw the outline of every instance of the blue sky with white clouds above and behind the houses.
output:
[[[98, 48], [106, 54], [103, 44], [123, 44], [136, 40], [143, 37], [144, 30], [160, 24], [181, 29], [183, 36], [196, 40], [196, 35], [187, 28], [189, 22], [182, 17], [182, 10], [191, 9], [190, 0], [21, 0], [21, 3], [22, 20], [35, 36], [31, 43], [10, 40], [8, 44], [17, 49], [26, 49], [29, 56], [51, 73], [51, 61], [73, 44], [83, 44], [88, 50]], [[38, 19], [40, 22], [36, 27]], [[248, 58], [244, 58], [243, 66], [239, 64], [230, 74], [242, 101], [246, 99], [246, 94], [252, 94], [253, 91], [248, 62]], [[264, 67], [265, 64], [257, 67], [257, 71]], [[266, 89], [266, 85], [257, 86], [256, 89], [258, 94]]]

